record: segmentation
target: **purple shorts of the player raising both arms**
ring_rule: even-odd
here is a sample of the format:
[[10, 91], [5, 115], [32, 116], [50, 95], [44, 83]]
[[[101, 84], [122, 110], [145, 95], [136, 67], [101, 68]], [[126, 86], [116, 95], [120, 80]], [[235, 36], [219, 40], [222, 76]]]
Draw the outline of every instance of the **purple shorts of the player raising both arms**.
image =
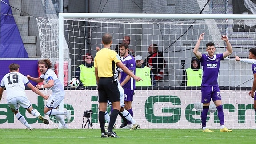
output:
[[201, 102], [203, 104], [209, 103], [211, 99], [212, 101], [221, 100], [220, 88], [218, 86], [202, 86], [201, 93]]

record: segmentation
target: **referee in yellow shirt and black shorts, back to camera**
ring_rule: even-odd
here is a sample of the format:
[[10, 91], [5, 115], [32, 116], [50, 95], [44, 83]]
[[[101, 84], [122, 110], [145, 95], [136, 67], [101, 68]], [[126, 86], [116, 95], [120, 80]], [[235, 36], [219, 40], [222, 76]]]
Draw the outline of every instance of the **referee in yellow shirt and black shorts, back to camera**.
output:
[[[134, 80], [140, 81], [141, 78], [135, 76], [131, 71], [129, 71], [129, 69], [121, 62], [120, 56], [110, 49], [112, 44], [112, 36], [110, 34], [104, 34], [102, 36], [102, 44], [104, 45], [104, 48], [97, 52], [94, 59], [95, 76], [99, 92], [99, 122], [101, 137], [117, 137], [116, 133], [113, 132], [113, 126], [121, 107], [120, 92], [117, 88], [115, 74], [116, 65], [129, 76], [133, 77]], [[112, 103], [113, 112], [110, 115], [108, 130], [105, 131], [104, 116], [108, 100]]]

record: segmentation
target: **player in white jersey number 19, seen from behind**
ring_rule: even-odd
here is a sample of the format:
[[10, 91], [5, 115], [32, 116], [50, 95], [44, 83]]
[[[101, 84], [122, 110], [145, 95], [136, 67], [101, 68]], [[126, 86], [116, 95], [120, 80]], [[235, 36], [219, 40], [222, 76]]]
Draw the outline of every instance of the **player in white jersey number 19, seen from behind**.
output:
[[42, 96], [44, 99], [48, 99], [49, 96], [42, 94], [36, 87], [34, 87], [29, 82], [26, 76], [19, 73], [19, 68], [19, 64], [12, 63], [9, 65], [10, 73], [6, 74], [1, 80], [0, 101], [2, 99], [5, 87], [8, 107], [15, 114], [15, 117], [27, 127], [27, 129], [33, 130], [33, 128], [30, 126], [30, 124], [28, 124], [24, 116], [20, 114], [19, 105], [25, 108], [28, 113], [42, 120], [44, 124], [49, 124], [49, 121], [41, 116], [40, 113], [32, 107], [30, 101], [28, 100], [28, 97], [26, 96], [24, 84], [26, 84], [28, 88], [32, 89], [33, 92]]

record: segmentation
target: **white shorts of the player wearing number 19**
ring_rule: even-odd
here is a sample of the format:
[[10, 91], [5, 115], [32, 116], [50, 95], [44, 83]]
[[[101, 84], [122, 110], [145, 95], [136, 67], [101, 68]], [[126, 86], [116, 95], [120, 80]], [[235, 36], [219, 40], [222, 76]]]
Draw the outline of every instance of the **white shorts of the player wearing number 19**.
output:
[[30, 101], [27, 97], [18, 96], [7, 101], [8, 107], [14, 110], [19, 109], [19, 105], [22, 108], [28, 109], [31, 107]]

